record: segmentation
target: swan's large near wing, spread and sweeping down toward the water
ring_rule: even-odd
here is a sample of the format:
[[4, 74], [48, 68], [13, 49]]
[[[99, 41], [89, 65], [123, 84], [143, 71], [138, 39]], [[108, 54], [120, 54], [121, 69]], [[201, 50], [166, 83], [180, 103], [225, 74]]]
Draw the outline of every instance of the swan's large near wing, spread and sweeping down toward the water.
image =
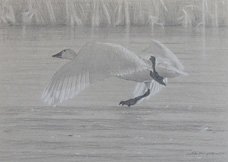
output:
[[90, 42], [82, 47], [74, 60], [55, 73], [42, 99], [49, 105], [62, 103], [89, 84], [145, 69], [144, 61], [120, 45]]

